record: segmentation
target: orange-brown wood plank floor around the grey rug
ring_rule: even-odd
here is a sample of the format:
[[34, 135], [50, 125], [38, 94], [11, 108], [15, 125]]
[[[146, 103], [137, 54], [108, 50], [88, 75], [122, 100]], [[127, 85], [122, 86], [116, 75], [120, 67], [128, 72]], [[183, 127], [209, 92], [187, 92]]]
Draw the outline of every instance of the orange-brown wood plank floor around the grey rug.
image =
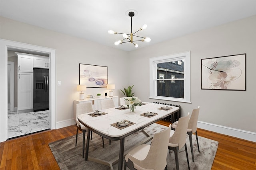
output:
[[[58, 170], [48, 144], [75, 134], [76, 126], [72, 125], [2, 142], [0, 170]], [[198, 129], [198, 135], [219, 142], [212, 170], [256, 170], [256, 143], [203, 129]]]

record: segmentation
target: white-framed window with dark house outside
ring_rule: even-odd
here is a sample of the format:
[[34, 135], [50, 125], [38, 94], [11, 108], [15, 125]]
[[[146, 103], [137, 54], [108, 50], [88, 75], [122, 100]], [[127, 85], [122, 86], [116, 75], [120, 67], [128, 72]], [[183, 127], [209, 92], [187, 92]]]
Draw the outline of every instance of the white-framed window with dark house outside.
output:
[[190, 51], [150, 58], [150, 98], [190, 102]]

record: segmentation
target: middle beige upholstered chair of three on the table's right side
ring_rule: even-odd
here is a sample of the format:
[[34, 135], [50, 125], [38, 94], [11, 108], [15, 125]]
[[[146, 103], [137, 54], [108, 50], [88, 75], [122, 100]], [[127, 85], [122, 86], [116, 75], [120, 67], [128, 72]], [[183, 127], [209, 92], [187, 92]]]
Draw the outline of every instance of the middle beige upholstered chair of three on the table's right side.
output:
[[185, 146], [188, 169], [190, 169], [189, 161], [188, 161], [188, 150], [186, 145], [188, 121], [189, 121], [189, 113], [185, 117], [180, 117], [176, 130], [175, 131], [171, 130], [171, 133], [170, 133], [168, 149], [174, 151], [177, 170], [179, 170], [178, 151], [183, 146]]

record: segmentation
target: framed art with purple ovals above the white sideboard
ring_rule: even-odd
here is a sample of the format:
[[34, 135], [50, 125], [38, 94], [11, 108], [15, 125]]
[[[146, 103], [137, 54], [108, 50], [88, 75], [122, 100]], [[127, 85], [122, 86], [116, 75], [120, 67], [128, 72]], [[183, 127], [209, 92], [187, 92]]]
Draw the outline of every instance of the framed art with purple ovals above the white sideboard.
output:
[[107, 87], [108, 67], [79, 63], [79, 84], [87, 88]]

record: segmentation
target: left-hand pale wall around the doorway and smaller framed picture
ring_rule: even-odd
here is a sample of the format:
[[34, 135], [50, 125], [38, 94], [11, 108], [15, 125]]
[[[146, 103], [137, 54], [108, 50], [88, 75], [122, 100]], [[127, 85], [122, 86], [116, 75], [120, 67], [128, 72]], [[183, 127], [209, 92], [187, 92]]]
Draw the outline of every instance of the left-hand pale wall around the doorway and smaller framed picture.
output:
[[[58, 122], [62, 125], [66, 125], [63, 121], [74, 123], [73, 100], [79, 98], [79, 92], [76, 91], [79, 82], [79, 63], [108, 66], [108, 82], [116, 85], [114, 90], [116, 96], [121, 95], [119, 89], [128, 85], [128, 80], [123, 76], [124, 70], [128, 68], [125, 64], [128, 61], [128, 53], [125, 51], [2, 17], [0, 17], [0, 28], [0, 39], [56, 49], [56, 81], [61, 81], [61, 86], [56, 86], [57, 128], [60, 127]], [[6, 63], [7, 68], [7, 57], [1, 55], [0, 60], [0, 65]], [[7, 69], [5, 67], [1, 69], [0, 78], [4, 78], [5, 74], [7, 76]], [[7, 82], [6, 86], [3, 86], [7, 89]], [[85, 94], [103, 95], [108, 91], [106, 88], [88, 88]], [[5, 102], [6, 98], [7, 96], [0, 95], [0, 101]], [[0, 114], [7, 115], [2, 107]], [[5, 120], [0, 120], [2, 125], [7, 124], [2, 121]]]

